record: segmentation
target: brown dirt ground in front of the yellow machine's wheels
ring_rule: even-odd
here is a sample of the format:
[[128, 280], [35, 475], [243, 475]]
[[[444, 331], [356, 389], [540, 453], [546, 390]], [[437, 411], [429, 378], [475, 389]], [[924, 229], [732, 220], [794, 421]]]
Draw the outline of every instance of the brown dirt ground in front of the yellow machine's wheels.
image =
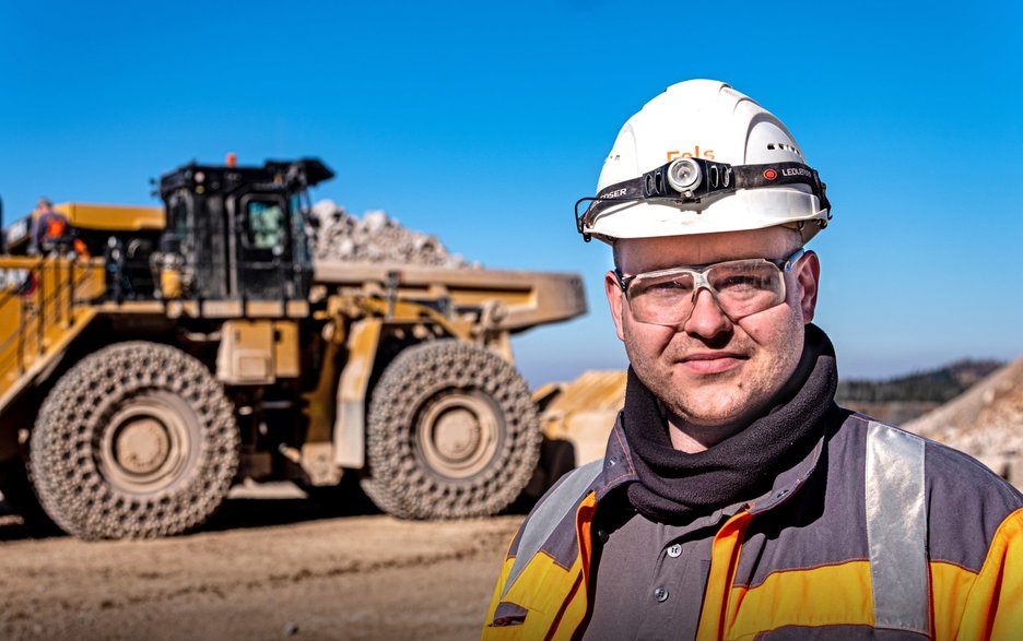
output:
[[28, 538], [0, 518], [0, 639], [477, 639], [522, 517], [405, 522], [235, 497], [203, 532]]

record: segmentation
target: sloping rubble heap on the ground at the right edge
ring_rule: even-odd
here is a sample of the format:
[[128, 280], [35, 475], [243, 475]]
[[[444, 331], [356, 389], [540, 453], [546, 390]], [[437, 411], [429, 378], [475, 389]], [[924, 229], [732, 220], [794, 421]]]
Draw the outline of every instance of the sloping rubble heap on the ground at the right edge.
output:
[[1023, 487], [1023, 358], [903, 427], [976, 456]]

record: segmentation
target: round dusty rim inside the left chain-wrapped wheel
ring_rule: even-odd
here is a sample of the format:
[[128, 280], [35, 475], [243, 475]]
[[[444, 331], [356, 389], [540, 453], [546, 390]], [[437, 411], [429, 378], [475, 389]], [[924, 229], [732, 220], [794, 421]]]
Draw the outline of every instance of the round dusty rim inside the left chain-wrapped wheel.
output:
[[170, 488], [186, 468], [195, 425], [177, 395], [134, 396], [110, 418], [99, 448], [99, 470], [117, 489], [152, 495]]

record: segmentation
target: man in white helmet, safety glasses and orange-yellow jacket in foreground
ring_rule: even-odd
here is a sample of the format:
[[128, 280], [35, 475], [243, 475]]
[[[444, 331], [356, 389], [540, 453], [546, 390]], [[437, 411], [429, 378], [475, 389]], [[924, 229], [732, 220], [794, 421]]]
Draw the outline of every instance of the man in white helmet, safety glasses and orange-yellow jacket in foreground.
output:
[[1020, 492], [834, 402], [803, 247], [831, 206], [777, 118], [671, 86], [580, 202], [613, 247], [625, 406], [513, 539], [484, 639], [1021, 633]]

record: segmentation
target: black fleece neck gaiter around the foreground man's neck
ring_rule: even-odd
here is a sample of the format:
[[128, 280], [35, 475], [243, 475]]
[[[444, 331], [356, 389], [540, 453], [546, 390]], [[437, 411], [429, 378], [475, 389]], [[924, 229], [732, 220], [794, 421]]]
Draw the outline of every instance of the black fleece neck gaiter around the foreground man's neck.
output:
[[627, 487], [630, 502], [654, 521], [686, 523], [761, 496], [824, 435], [838, 411], [837, 385], [834, 347], [808, 324], [796, 372], [768, 409], [734, 436], [687, 454], [672, 448], [657, 397], [630, 368], [622, 427], [639, 477]]

